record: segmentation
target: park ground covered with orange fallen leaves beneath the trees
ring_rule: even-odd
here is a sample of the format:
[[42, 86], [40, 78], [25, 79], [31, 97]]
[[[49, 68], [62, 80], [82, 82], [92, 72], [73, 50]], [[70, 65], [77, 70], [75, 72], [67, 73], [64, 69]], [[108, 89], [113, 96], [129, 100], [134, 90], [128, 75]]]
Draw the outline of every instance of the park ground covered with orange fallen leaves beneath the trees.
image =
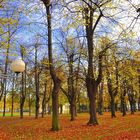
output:
[[112, 119], [110, 113], [98, 116], [99, 125], [87, 126], [88, 114], [78, 114], [74, 122], [60, 117], [61, 130], [50, 131], [51, 118], [0, 117], [0, 140], [140, 140], [140, 112]]

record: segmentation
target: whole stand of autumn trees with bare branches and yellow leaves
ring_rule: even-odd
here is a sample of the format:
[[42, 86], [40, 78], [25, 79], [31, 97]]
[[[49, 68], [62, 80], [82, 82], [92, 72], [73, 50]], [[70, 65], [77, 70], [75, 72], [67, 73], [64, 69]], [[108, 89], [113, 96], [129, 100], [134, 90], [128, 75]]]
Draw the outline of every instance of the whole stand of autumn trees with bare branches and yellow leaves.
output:
[[[125, 2], [126, 10], [122, 8]], [[96, 99], [98, 97], [98, 112], [102, 114], [104, 94], [109, 95], [112, 117], [116, 117], [117, 97], [120, 97], [123, 115], [126, 114], [126, 95], [132, 113], [136, 100], [139, 106], [139, 42], [134, 32], [139, 20], [137, 4], [110, 0], [1, 1], [0, 4], [1, 72], [11, 73], [10, 59], [15, 52], [26, 63], [25, 72], [17, 80], [1, 78], [3, 116], [10, 94], [12, 115], [14, 98], [20, 94], [21, 118], [26, 100], [29, 108], [32, 99], [35, 101], [38, 118], [41, 101], [44, 116], [51, 97], [54, 131], [59, 130], [60, 92], [70, 104], [71, 120], [76, 117], [80, 97], [87, 93], [88, 125], [98, 124]], [[132, 17], [130, 15], [128, 25], [122, 15], [131, 14], [130, 10]]]

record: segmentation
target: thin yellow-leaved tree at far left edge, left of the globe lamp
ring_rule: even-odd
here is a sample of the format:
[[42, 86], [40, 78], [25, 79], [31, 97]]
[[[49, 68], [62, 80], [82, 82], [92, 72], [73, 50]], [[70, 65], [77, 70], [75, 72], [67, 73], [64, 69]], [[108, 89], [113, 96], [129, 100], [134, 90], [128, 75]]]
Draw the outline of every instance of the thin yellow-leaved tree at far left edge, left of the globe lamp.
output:
[[[17, 9], [13, 8], [13, 7], [9, 7], [9, 2], [6, 1], [5, 3], [3, 3], [4, 1], [0, 1], [0, 9], [1, 9], [1, 13], [2, 13], [2, 17], [0, 17], [0, 37], [1, 37], [1, 50], [3, 50], [5, 52], [5, 54], [1, 54], [3, 55], [4, 63], [3, 63], [3, 70], [2, 73], [4, 75], [8, 74], [9, 71], [9, 57], [10, 57], [10, 49], [12, 47], [12, 41], [14, 38], [14, 35], [18, 29], [18, 14], [17, 12], [15, 12]], [[14, 16], [17, 15], [17, 17], [15, 18]], [[5, 109], [6, 109], [6, 96], [7, 96], [7, 82], [9, 80], [4, 78], [3, 80], [1, 80], [1, 95], [0, 95], [0, 100], [3, 97], [3, 116], [5, 116]]]

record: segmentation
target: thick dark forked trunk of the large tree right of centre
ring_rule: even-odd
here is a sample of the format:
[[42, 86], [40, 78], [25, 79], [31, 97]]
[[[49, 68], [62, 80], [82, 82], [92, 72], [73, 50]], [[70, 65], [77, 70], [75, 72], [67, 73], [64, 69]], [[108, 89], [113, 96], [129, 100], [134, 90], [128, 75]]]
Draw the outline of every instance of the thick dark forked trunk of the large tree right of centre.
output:
[[86, 87], [87, 87], [87, 94], [89, 98], [89, 114], [90, 114], [90, 119], [87, 124], [95, 125], [98, 124], [97, 116], [96, 116], [96, 94], [97, 94], [98, 85], [102, 79], [102, 55], [99, 54], [99, 61], [98, 61], [99, 73], [97, 79], [95, 79], [93, 75], [93, 34], [103, 15], [100, 10], [100, 14], [93, 25], [94, 9], [92, 9], [91, 7], [88, 5], [88, 7], [84, 8], [84, 20], [86, 22], [85, 28], [86, 28], [86, 39], [87, 39], [87, 48], [88, 48], [88, 72], [86, 75]]

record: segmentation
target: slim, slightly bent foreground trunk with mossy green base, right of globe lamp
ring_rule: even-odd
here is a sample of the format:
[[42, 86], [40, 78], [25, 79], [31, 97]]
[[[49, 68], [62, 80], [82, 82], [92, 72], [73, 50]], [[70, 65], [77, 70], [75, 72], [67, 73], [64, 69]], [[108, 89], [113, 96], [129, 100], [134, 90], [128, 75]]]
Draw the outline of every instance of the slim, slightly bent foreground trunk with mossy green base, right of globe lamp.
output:
[[61, 80], [56, 75], [52, 57], [52, 27], [51, 27], [51, 2], [50, 0], [42, 0], [46, 7], [47, 22], [48, 22], [48, 56], [49, 56], [49, 68], [50, 74], [53, 79], [53, 91], [52, 91], [52, 131], [58, 131], [59, 126], [59, 104], [58, 93], [61, 87]]

